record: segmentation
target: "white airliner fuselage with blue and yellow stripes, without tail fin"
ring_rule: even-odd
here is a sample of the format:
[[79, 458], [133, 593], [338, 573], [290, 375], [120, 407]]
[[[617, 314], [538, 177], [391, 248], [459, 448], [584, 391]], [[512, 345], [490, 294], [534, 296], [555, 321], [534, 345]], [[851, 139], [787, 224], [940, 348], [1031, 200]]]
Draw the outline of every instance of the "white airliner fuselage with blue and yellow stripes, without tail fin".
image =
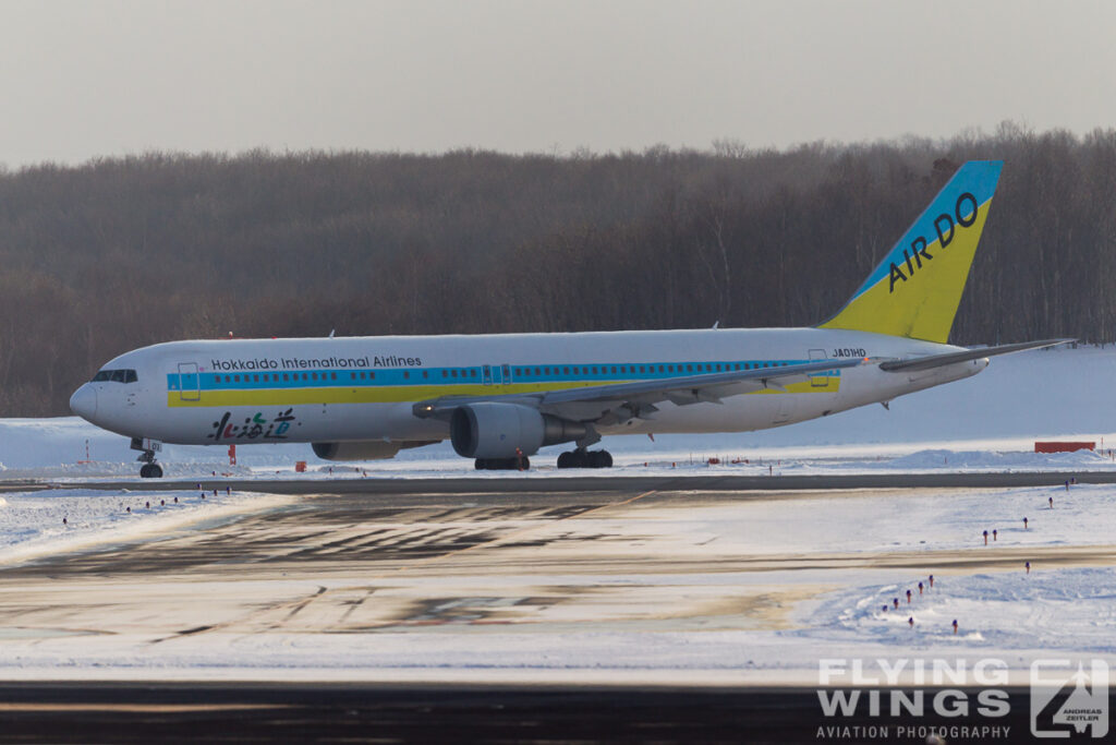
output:
[[[95, 424], [183, 445], [435, 441], [439, 419], [417, 401], [540, 391], [835, 357], [912, 357], [959, 347], [866, 332], [818, 328], [378, 336], [187, 341], [123, 354], [71, 399]], [[790, 424], [973, 375], [977, 360], [930, 371], [877, 364], [799, 383], [664, 402], [650, 418], [600, 426], [600, 434], [737, 432]], [[739, 367], [738, 367], [739, 369]], [[117, 374], [116, 371], [134, 371]], [[114, 380], [114, 378], [116, 380]]]

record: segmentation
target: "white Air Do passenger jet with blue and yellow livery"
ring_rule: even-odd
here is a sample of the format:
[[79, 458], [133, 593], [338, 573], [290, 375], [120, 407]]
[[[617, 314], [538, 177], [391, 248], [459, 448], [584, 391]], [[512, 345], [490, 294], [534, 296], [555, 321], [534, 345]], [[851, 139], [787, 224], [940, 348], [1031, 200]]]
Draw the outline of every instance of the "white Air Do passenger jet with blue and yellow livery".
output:
[[947, 344], [1002, 161], [962, 165], [828, 321], [806, 328], [209, 340], [108, 362], [74, 413], [132, 438], [142, 477], [162, 443], [309, 442], [372, 460], [449, 439], [477, 469], [606, 468], [602, 437], [741, 432], [827, 417], [1060, 344]]

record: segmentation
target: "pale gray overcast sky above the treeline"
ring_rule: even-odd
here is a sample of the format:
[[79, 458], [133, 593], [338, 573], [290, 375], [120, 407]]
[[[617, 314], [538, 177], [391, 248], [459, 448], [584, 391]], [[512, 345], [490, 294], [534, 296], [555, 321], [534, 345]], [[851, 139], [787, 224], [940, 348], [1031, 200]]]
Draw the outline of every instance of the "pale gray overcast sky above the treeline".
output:
[[0, 163], [1116, 125], [1116, 2], [0, 0]]

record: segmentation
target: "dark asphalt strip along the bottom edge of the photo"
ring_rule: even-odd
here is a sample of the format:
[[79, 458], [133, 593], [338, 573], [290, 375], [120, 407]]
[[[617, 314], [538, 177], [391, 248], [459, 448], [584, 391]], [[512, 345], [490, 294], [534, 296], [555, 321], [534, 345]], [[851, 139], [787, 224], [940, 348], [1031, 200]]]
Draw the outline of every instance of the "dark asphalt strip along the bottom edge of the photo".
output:
[[[997, 717], [827, 717], [814, 688], [0, 684], [0, 742], [923, 744], [931, 728], [951, 745], [1050, 742], [1030, 733], [1028, 689], [1002, 690]], [[978, 693], [954, 696], [975, 709]]]

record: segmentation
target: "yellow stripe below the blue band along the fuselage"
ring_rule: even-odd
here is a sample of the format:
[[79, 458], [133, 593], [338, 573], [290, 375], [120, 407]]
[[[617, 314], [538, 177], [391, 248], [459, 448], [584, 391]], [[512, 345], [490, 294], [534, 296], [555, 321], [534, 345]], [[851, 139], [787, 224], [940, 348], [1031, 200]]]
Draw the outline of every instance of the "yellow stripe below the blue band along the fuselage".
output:
[[[825, 381], [825, 385], [820, 382]], [[277, 389], [254, 389], [254, 390], [224, 390], [224, 391], [185, 391], [187, 397], [195, 399], [183, 399], [179, 391], [167, 391], [166, 405], [179, 407], [295, 407], [308, 404], [329, 403], [410, 403], [415, 401], [429, 401], [450, 395], [511, 395], [523, 393], [545, 393], [547, 391], [565, 391], [577, 388], [594, 388], [599, 385], [615, 385], [620, 382], [615, 381], [598, 382], [588, 384], [586, 381], [569, 383], [513, 383], [510, 385], [376, 385], [367, 388], [335, 386], [335, 388], [277, 388]], [[667, 381], [663, 381], [666, 383]], [[788, 393], [834, 393], [840, 386], [840, 378], [824, 376], [815, 381], [802, 381], [787, 385]], [[776, 390], [753, 391], [754, 393], [779, 393]]]

